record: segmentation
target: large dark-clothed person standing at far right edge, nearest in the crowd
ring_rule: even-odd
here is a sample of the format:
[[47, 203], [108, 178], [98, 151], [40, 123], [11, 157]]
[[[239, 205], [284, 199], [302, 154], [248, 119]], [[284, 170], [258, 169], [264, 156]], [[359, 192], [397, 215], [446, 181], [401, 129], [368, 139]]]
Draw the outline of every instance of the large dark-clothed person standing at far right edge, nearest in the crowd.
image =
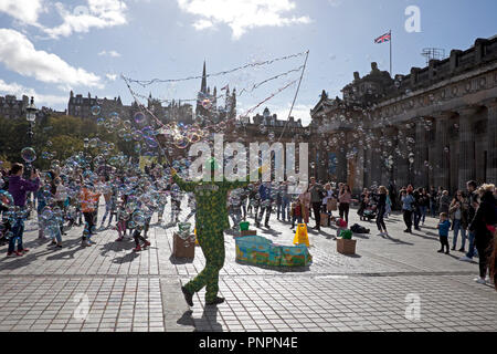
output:
[[494, 233], [496, 220], [496, 202], [494, 197], [495, 185], [483, 185], [478, 189], [480, 205], [475, 218], [469, 225], [469, 230], [475, 232], [475, 244], [478, 250], [479, 278], [477, 283], [485, 284], [489, 258], [493, 253]]

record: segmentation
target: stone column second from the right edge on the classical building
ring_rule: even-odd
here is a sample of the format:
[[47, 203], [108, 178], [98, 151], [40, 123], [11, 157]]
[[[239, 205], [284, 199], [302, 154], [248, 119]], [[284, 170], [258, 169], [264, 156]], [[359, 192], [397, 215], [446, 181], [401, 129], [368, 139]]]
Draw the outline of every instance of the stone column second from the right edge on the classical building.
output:
[[475, 165], [475, 122], [476, 110], [468, 107], [459, 110], [459, 171], [458, 189], [465, 190], [466, 183], [476, 178]]

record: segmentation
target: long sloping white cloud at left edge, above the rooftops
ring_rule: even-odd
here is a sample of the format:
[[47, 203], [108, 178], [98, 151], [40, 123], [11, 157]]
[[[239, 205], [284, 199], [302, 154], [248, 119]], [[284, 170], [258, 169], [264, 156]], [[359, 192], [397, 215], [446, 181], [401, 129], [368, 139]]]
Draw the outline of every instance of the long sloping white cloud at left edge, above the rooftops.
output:
[[10, 29], [0, 29], [0, 62], [13, 72], [46, 83], [103, 87], [97, 75], [73, 67], [55, 54], [35, 50], [24, 34]]

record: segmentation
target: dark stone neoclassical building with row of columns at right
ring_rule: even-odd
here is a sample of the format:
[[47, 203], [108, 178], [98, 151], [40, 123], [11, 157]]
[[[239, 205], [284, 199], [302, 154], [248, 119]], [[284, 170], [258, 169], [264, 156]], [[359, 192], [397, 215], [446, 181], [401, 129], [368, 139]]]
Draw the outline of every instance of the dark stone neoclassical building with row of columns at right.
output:
[[376, 63], [310, 111], [311, 173], [372, 185], [413, 184], [451, 192], [497, 181], [497, 37], [391, 77]]

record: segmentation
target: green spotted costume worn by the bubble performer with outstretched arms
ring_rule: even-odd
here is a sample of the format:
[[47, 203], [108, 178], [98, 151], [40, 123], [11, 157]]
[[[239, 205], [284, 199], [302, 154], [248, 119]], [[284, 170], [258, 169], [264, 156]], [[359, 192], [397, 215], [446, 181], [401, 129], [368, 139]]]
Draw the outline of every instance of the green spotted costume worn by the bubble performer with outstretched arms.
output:
[[205, 268], [184, 288], [195, 293], [205, 287], [205, 302], [211, 302], [218, 296], [219, 271], [224, 264], [223, 231], [230, 228], [228, 192], [248, 185], [250, 176], [246, 181], [184, 181], [176, 174], [172, 178], [182, 190], [192, 191], [195, 196], [197, 239], [205, 257]]

